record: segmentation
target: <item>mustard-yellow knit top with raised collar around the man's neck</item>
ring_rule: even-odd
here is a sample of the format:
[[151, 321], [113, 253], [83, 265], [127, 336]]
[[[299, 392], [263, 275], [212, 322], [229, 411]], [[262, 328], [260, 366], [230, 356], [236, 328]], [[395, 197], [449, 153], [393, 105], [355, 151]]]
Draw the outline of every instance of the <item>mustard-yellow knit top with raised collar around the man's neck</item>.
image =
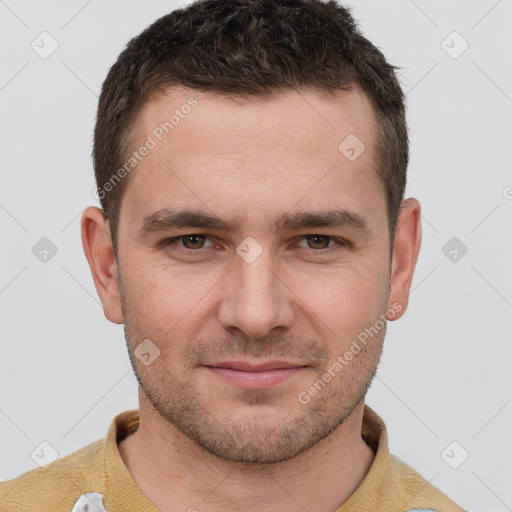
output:
[[[124, 411], [111, 421], [105, 439], [0, 482], [0, 512], [158, 512], [137, 486], [117, 447], [138, 423], [138, 410]], [[389, 453], [386, 426], [367, 405], [361, 435], [375, 459], [356, 491], [335, 512], [465, 512]]]

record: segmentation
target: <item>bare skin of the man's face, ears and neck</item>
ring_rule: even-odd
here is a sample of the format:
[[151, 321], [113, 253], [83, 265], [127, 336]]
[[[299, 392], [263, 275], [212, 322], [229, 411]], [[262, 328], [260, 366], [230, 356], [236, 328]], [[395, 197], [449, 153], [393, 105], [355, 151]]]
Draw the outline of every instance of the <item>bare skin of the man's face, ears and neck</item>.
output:
[[[124, 323], [140, 384], [139, 430], [120, 443], [121, 454], [161, 510], [171, 510], [172, 500], [200, 502], [227, 474], [208, 510], [299, 510], [297, 502], [333, 510], [373, 460], [360, 430], [385, 324], [341, 371], [332, 368], [366, 328], [382, 325], [389, 311], [394, 320], [405, 312], [420, 205], [404, 201], [391, 261], [385, 191], [374, 168], [376, 118], [357, 88], [250, 102], [169, 89], [144, 107], [136, 147], [191, 97], [197, 106], [132, 171], [119, 262], [101, 210], [82, 216], [105, 315]], [[338, 150], [349, 134], [366, 146], [355, 161]], [[146, 217], [178, 208], [239, 226], [141, 231]], [[366, 227], [269, 227], [283, 215], [336, 209]], [[173, 237], [183, 238], [164, 243]], [[240, 249], [261, 254], [249, 262]], [[147, 366], [134, 355], [146, 339], [160, 351]], [[241, 386], [212, 370], [226, 361], [300, 368], [272, 386]], [[330, 382], [299, 400], [329, 368]], [[270, 487], [268, 471], [279, 476]]]

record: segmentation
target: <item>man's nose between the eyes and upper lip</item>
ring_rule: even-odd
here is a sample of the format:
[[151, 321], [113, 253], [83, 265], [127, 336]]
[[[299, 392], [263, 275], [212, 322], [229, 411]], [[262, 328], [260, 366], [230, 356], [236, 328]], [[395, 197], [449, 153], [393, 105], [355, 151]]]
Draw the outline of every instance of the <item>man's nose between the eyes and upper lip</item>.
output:
[[223, 280], [218, 320], [225, 329], [240, 329], [253, 339], [276, 327], [290, 328], [295, 314], [290, 288], [270, 251], [264, 250], [251, 263], [237, 255]]

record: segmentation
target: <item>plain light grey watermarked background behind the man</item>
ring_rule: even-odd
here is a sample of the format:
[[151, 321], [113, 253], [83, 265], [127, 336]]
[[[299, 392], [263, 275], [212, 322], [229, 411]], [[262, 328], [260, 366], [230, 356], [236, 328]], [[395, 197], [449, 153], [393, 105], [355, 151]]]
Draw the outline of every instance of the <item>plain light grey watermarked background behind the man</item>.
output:
[[[107, 70], [180, 5], [0, 0], [0, 481], [37, 467], [42, 441], [64, 456], [138, 406], [122, 326], [103, 316], [79, 219], [98, 204], [90, 152]], [[392, 453], [455, 501], [512, 510], [512, 1], [350, 5], [403, 68], [406, 196], [423, 206], [409, 309], [388, 324], [367, 403]], [[59, 44], [48, 59], [31, 48], [42, 31]], [[442, 46], [454, 31], [469, 43], [456, 59]], [[452, 53], [456, 37], [444, 43]], [[454, 236], [468, 248], [457, 262], [442, 252]], [[32, 253], [42, 237], [58, 248], [46, 263]], [[458, 469], [441, 456], [452, 441], [469, 453]]]

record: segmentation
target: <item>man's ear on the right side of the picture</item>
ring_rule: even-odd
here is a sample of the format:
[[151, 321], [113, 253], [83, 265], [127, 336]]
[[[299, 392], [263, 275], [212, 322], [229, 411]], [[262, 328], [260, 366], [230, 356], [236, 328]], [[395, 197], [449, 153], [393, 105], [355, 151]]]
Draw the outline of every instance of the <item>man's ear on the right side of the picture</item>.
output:
[[393, 246], [393, 261], [391, 264], [390, 293], [388, 309], [392, 304], [400, 304], [402, 308], [389, 320], [397, 320], [407, 309], [409, 303], [409, 291], [418, 253], [421, 246], [421, 206], [420, 203], [410, 197], [402, 201], [400, 215], [395, 231]]

